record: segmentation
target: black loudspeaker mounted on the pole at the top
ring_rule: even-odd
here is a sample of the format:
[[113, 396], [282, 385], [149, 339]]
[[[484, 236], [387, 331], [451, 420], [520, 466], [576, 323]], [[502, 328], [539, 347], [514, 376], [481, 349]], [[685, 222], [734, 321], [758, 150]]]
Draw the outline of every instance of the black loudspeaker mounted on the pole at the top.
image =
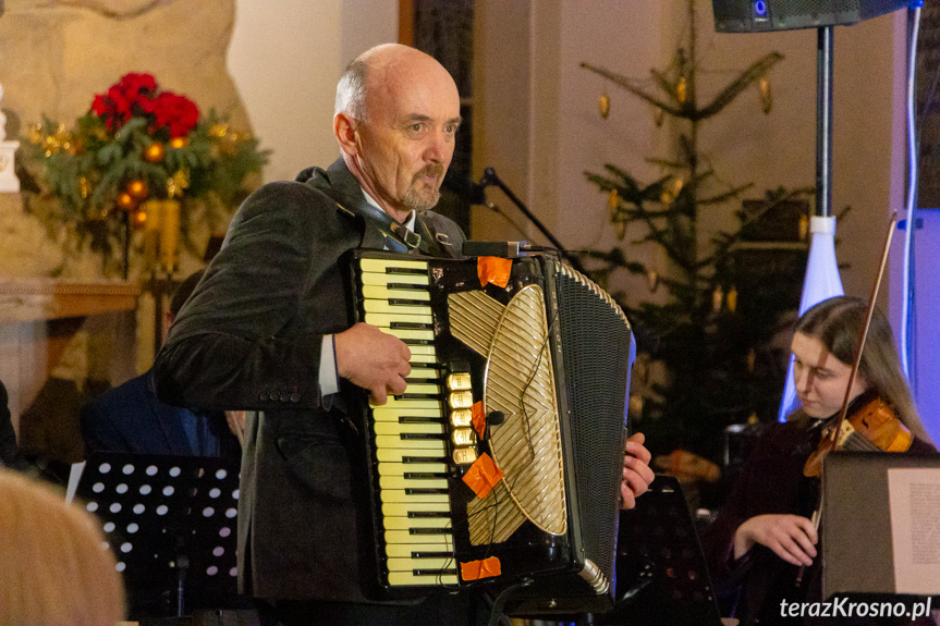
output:
[[718, 33], [761, 33], [855, 24], [917, 0], [711, 0]]

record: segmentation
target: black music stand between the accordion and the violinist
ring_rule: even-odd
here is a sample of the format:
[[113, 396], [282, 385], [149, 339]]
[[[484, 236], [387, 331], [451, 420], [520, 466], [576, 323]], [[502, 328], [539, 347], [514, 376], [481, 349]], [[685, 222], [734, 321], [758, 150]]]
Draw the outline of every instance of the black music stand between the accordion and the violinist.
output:
[[721, 626], [705, 554], [682, 487], [658, 474], [620, 516], [617, 605], [600, 624]]

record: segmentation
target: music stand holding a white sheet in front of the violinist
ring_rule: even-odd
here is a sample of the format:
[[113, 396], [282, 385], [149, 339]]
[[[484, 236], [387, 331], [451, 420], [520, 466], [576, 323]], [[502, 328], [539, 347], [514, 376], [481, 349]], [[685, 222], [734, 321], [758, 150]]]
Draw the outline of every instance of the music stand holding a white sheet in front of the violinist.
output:
[[[900, 483], [890, 478], [892, 470], [918, 468], [924, 472], [915, 484], [906, 484], [903, 474], [895, 474]], [[921, 493], [919, 502], [912, 490]], [[940, 596], [940, 576], [931, 575], [925, 559], [929, 554], [923, 554], [932, 552], [932, 573], [940, 570], [936, 537], [930, 535], [940, 507], [937, 494], [938, 455], [829, 454], [822, 465], [822, 597]], [[921, 545], [908, 542], [918, 535]], [[920, 564], [910, 563], [912, 553]]]

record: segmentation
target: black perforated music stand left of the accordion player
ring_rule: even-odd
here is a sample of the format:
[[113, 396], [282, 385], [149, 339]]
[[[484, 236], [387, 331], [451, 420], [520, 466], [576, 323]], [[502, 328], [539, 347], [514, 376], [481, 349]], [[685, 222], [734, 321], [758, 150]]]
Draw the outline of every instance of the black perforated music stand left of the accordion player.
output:
[[[183, 618], [187, 602], [217, 606], [237, 596], [236, 464], [96, 452], [75, 495], [101, 519], [132, 617], [139, 610], [146, 617]], [[169, 615], [168, 598], [176, 600]], [[164, 614], [151, 615], [155, 610]]]

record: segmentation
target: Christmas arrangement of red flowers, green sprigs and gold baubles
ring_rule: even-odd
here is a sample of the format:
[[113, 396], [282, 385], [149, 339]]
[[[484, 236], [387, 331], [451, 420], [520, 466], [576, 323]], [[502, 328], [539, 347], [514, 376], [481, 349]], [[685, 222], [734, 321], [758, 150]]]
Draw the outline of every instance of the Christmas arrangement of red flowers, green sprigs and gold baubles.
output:
[[[147, 200], [174, 200], [182, 242], [188, 240], [190, 200], [197, 214], [219, 223], [251, 191], [268, 151], [247, 133], [234, 132], [215, 111], [202, 118], [195, 102], [161, 90], [152, 74], [125, 74], [68, 128], [49, 119], [29, 130], [25, 167], [39, 195], [58, 198], [50, 230], [65, 224], [81, 249], [90, 242], [106, 266], [124, 250], [127, 275], [131, 226], [148, 226]], [[152, 218], [152, 216], [151, 216]]]

